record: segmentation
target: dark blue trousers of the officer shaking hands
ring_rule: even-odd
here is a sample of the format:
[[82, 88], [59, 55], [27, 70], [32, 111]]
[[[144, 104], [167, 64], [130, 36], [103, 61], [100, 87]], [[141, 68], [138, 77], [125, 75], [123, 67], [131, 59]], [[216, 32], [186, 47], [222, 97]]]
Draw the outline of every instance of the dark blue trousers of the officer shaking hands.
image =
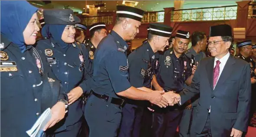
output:
[[121, 123], [122, 108], [91, 94], [85, 104], [85, 120], [89, 137], [116, 137]]

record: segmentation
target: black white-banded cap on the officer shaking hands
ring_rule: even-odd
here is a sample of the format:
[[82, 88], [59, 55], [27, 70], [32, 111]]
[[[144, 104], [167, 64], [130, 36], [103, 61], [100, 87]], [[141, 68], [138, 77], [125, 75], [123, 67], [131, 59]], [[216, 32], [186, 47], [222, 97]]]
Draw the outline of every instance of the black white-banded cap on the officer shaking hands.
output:
[[116, 6], [117, 17], [130, 18], [133, 20], [141, 21], [144, 15], [144, 10], [137, 9], [129, 6]]

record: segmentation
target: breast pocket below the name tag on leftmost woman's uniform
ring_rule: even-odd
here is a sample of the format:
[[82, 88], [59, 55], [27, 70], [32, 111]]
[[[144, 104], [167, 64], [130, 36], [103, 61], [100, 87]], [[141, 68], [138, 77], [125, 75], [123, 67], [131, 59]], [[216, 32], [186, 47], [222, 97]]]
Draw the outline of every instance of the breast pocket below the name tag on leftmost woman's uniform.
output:
[[25, 94], [26, 80], [20, 72], [1, 72], [1, 98]]

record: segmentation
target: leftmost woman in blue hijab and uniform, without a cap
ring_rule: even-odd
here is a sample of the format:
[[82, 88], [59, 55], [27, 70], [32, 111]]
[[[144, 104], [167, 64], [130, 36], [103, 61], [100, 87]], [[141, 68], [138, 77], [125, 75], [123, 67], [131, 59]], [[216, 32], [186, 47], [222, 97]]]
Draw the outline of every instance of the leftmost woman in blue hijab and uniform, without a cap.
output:
[[[56, 85], [57, 81], [47, 77], [49, 69], [31, 46], [36, 42], [39, 31], [36, 12], [37, 8], [26, 1], [0, 2], [2, 137], [28, 137], [26, 131], [46, 108], [51, 108], [52, 118], [45, 129], [65, 115], [62, 102], [65, 93], [59, 95], [58, 90], [51, 91], [51, 85]], [[57, 93], [56, 96], [53, 92]], [[55, 105], [49, 105], [54, 97]]]

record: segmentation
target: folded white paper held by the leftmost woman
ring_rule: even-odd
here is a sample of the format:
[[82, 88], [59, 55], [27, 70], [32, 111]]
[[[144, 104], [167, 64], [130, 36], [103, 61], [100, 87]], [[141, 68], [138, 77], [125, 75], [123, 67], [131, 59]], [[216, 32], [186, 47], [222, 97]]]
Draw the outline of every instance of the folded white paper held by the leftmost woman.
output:
[[42, 137], [44, 134], [43, 128], [46, 126], [48, 121], [50, 121], [52, 117], [52, 112], [50, 108], [47, 108], [43, 114], [36, 120], [36, 123], [30, 130], [27, 130], [26, 133], [30, 137]]

